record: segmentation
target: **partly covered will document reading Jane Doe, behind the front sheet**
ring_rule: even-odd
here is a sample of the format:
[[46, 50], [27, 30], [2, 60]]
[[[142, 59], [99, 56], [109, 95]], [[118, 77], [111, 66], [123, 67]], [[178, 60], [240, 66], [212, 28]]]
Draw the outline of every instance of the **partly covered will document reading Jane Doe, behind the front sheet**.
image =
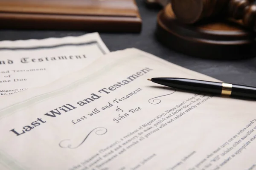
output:
[[98, 33], [0, 42], [0, 96], [40, 87], [109, 53]]

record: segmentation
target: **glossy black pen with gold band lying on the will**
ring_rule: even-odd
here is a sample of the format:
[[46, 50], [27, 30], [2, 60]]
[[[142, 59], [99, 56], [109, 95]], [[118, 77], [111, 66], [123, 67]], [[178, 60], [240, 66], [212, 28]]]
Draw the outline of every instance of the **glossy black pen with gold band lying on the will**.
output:
[[148, 80], [185, 91], [256, 99], [256, 87], [183, 78], [157, 77]]

